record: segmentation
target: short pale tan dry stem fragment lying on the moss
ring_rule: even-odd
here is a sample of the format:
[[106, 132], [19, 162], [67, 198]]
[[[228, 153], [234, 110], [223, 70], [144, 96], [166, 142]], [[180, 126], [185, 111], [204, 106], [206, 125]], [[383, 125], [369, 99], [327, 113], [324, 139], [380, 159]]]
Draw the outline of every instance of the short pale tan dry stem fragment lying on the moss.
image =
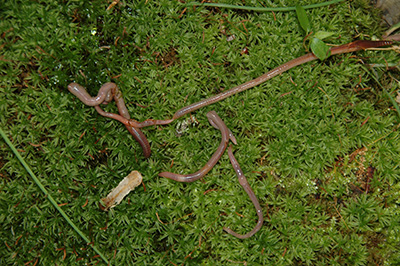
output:
[[105, 205], [104, 210], [107, 211], [118, 205], [129, 192], [142, 183], [142, 179], [143, 177], [138, 171], [132, 171], [116, 188], [111, 190], [106, 198], [101, 199]]

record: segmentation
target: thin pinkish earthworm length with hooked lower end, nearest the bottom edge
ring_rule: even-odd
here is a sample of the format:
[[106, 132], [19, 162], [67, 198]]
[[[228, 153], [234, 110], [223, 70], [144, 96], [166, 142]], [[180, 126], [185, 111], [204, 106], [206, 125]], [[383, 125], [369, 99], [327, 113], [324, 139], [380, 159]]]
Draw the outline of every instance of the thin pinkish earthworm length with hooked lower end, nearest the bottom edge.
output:
[[258, 202], [258, 199], [257, 199], [256, 195], [254, 194], [253, 190], [251, 189], [249, 182], [247, 182], [247, 179], [244, 176], [243, 171], [240, 168], [238, 161], [236, 160], [235, 156], [232, 153], [232, 145], [230, 145], [228, 148], [228, 156], [229, 156], [229, 160], [231, 161], [231, 164], [233, 166], [233, 169], [235, 169], [235, 172], [239, 179], [240, 185], [246, 191], [247, 195], [249, 195], [251, 201], [254, 204], [254, 207], [256, 208], [257, 215], [258, 215], [258, 222], [257, 222], [257, 225], [253, 228], [253, 230], [251, 230], [250, 232], [248, 232], [247, 234], [244, 234], [244, 235], [238, 234], [228, 227], [224, 227], [224, 230], [225, 230], [225, 232], [227, 232], [233, 236], [236, 236], [237, 238], [245, 239], [245, 238], [249, 238], [249, 237], [253, 236], [255, 233], [257, 233], [261, 229], [262, 224], [264, 222], [264, 218], [262, 215], [260, 203]]

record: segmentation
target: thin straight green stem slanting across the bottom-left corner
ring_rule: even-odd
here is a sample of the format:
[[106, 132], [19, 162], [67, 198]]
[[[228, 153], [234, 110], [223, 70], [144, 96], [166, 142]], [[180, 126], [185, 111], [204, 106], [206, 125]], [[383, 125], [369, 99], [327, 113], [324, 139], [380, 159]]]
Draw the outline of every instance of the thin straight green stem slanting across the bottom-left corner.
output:
[[[43, 184], [40, 182], [40, 180], [36, 177], [36, 175], [33, 173], [29, 165], [25, 162], [24, 158], [22, 158], [21, 154], [17, 151], [15, 146], [12, 144], [10, 139], [7, 137], [7, 135], [4, 133], [4, 131], [0, 128], [0, 135], [3, 137], [7, 145], [11, 148], [15, 156], [17, 156], [18, 160], [21, 162], [21, 164], [25, 167], [26, 171], [31, 175], [32, 179], [35, 181], [35, 183], [38, 185], [40, 190], [46, 195], [47, 199], [53, 204], [53, 206], [58, 210], [58, 212], [64, 217], [64, 219], [71, 225], [71, 227], [83, 238], [83, 240], [86, 241], [87, 244], [90, 243], [89, 238], [86, 237], [86, 235], [72, 222], [72, 220], [68, 217], [68, 215], [58, 206], [57, 202], [54, 200], [54, 198], [49, 194], [49, 192], [46, 190], [46, 188], [43, 186]], [[94, 245], [92, 245], [93, 250], [108, 264], [107, 258], [103, 255], [103, 253], [100, 252]]]

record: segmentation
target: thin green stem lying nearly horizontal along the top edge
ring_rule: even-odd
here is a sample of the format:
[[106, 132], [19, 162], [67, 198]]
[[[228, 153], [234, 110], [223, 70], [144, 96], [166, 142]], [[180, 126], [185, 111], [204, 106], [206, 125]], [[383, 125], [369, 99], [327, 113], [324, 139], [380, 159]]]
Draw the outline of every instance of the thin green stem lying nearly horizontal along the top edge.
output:
[[[344, 0], [332, 0], [318, 4], [306, 5], [303, 6], [304, 9], [310, 8], [318, 8], [323, 6], [328, 6], [336, 3], [343, 2]], [[295, 6], [290, 7], [253, 7], [253, 6], [237, 6], [237, 5], [229, 5], [229, 4], [221, 4], [221, 3], [199, 3], [199, 2], [190, 2], [185, 4], [186, 6], [211, 6], [211, 7], [223, 7], [223, 8], [230, 8], [230, 9], [242, 9], [242, 10], [250, 10], [250, 11], [257, 11], [257, 12], [266, 12], [266, 11], [294, 11], [296, 10]]]

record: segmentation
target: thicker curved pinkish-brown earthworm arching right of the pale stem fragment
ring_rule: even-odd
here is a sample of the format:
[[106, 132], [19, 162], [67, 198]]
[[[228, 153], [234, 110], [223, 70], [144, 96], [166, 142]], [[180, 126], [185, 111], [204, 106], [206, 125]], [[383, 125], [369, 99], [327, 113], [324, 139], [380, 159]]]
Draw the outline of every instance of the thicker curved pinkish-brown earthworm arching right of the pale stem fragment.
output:
[[234, 144], [237, 143], [236, 138], [233, 136], [232, 132], [228, 129], [228, 127], [225, 125], [224, 121], [222, 121], [222, 119], [218, 116], [218, 114], [215, 111], [208, 112], [207, 118], [213, 127], [215, 127], [216, 129], [219, 129], [221, 131], [222, 139], [221, 139], [221, 144], [218, 146], [218, 149], [211, 156], [210, 160], [208, 160], [206, 165], [203, 168], [201, 168], [199, 171], [197, 171], [196, 173], [193, 173], [193, 174], [180, 175], [180, 174], [175, 174], [175, 173], [171, 173], [171, 172], [162, 172], [162, 173], [158, 174], [159, 176], [173, 179], [178, 182], [196, 181], [196, 180], [204, 177], [218, 162], [218, 160], [221, 158], [222, 154], [224, 153], [224, 151], [228, 145], [229, 139]]

